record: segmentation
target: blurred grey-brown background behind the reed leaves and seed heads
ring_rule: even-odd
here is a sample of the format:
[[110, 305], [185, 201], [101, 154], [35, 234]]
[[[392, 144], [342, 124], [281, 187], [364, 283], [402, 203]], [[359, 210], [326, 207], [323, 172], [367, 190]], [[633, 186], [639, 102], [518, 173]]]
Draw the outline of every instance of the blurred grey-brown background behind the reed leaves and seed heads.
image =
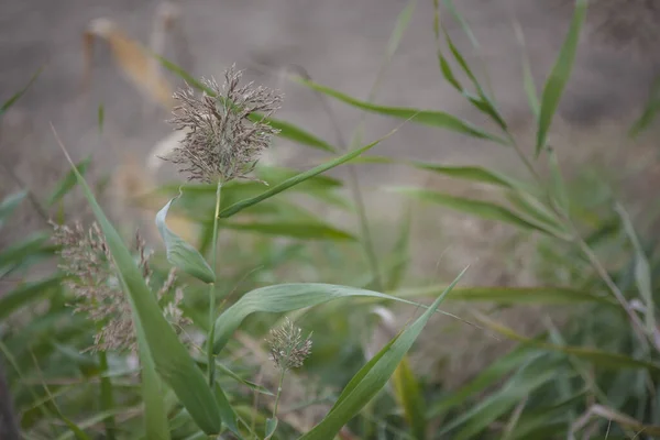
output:
[[[574, 3], [457, 3], [479, 47], [449, 12], [442, 12], [441, 19], [465, 61], [494, 91], [510, 132], [531, 153], [536, 119], [524, 89], [524, 55], [540, 92], [565, 38]], [[51, 124], [75, 161], [92, 156], [88, 175], [99, 186], [105, 185], [110, 195], [108, 209], [122, 221], [128, 219], [124, 216], [143, 221], [141, 211], [129, 209], [123, 202], [146, 185], [147, 177], [155, 184], [175, 176], [168, 164], [157, 170], [147, 169], [154, 146], [172, 133], [166, 122], [170, 112], [127, 77], [107, 34], [103, 36], [110, 28], [162, 54], [196, 78], [221, 80], [224, 69], [235, 64], [246, 79], [284, 91], [277, 119], [333, 145], [350, 141], [362, 113], [292, 80], [292, 74], [361, 100], [370, 98], [370, 90], [378, 80], [373, 97], [378, 105], [441, 110], [480, 127], [494, 127], [441, 75], [431, 0], [415, 2], [400, 44], [392, 59], [386, 61], [397, 16], [408, 4], [402, 0], [3, 0], [0, 102], [25, 87], [38, 69], [43, 70], [0, 119], [0, 196], [30, 188], [37, 199], [45, 198], [66, 174], [67, 164]], [[96, 32], [94, 38], [86, 36], [89, 30]], [[626, 208], [648, 232], [649, 240], [656, 237], [654, 215], [645, 209], [654, 208], [651, 202], [660, 184], [660, 132], [657, 123], [649, 124], [641, 135], [631, 139], [629, 128], [644, 112], [660, 75], [659, 43], [658, 2], [592, 1], [573, 72], [549, 135], [566, 180], [574, 185], [571, 188], [579, 199], [576, 204], [597, 198], [598, 185], [604, 183], [626, 200]], [[158, 69], [172, 90], [184, 85], [178, 76]], [[364, 123], [362, 144], [385, 135], [400, 120], [366, 114]], [[442, 165], [487, 165], [510, 176], [526, 176], [506, 147], [413, 123], [403, 125], [371, 153]], [[277, 139], [264, 163], [307, 169], [327, 157], [318, 150]], [[392, 228], [405, 209], [404, 201], [381, 191], [380, 186], [414, 184], [461, 196], [488, 194], [487, 188], [429, 176], [396, 163], [363, 164], [359, 169], [378, 249], [392, 244]], [[340, 167], [330, 175], [345, 178], [345, 173]], [[67, 199], [66, 206], [82, 217], [88, 212], [80, 197]], [[354, 218], [345, 212], [328, 212], [327, 219], [354, 226]], [[34, 207], [23, 205], [0, 231], [0, 246], [42, 227], [43, 218]], [[465, 277], [469, 285], [525, 286], [542, 283], [547, 277], [574, 279], [574, 274], [564, 276], [548, 261], [539, 270], [538, 258], [530, 256], [540, 252], [539, 244], [520, 239], [509, 227], [450, 210], [419, 208], [414, 211], [413, 231], [411, 285], [419, 286], [421, 282], [416, 280], [420, 279], [451, 279], [468, 264], [472, 267]], [[289, 274], [288, 280], [295, 282], [296, 277], [305, 275]], [[457, 314], [464, 311], [463, 306], [451, 307]], [[501, 318], [530, 333], [541, 327], [539, 316], [557, 312], [546, 307], [529, 310], [507, 309]], [[565, 314], [557, 314], [558, 322], [562, 322]], [[402, 315], [399, 323], [409, 317], [410, 312]], [[482, 329], [459, 327], [460, 337], [451, 332], [440, 334], [433, 329], [425, 333], [422, 349], [414, 358], [418, 371], [438, 374], [439, 362], [443, 362], [443, 381], [459, 386], [502, 354], [504, 346], [510, 346], [484, 337]], [[457, 344], [466, 349], [455, 350]]]

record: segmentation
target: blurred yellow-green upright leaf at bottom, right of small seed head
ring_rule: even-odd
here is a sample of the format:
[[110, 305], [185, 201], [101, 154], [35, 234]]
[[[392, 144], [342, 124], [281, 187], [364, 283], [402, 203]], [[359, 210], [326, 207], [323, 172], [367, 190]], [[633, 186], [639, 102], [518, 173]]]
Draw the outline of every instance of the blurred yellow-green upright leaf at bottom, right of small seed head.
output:
[[395, 396], [404, 409], [406, 421], [410, 426], [416, 439], [426, 439], [426, 403], [421, 394], [421, 386], [410, 369], [408, 356], [405, 356], [392, 376]]

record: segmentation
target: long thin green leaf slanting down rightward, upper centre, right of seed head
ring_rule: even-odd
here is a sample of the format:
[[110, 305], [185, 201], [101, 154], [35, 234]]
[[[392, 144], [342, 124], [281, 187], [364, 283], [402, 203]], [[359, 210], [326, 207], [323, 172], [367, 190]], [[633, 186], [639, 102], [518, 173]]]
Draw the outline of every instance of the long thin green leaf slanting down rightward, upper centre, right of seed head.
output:
[[436, 110], [418, 110], [403, 107], [385, 107], [378, 106], [371, 102], [365, 102], [352, 98], [348, 95], [333, 90], [329, 87], [321, 86], [319, 84], [309, 81], [307, 79], [298, 78], [302, 85], [317, 90], [321, 94], [328, 95], [332, 98], [336, 98], [344, 103], [356, 107], [361, 110], [370, 111], [372, 113], [384, 114], [398, 119], [409, 119], [413, 122], [417, 122], [425, 125], [439, 127], [442, 129], [452, 130], [459, 133], [469, 134], [479, 139], [486, 139], [493, 142], [497, 142], [503, 145], [508, 145], [508, 142], [502, 138], [498, 138], [494, 134], [487, 133], [482, 129], [472, 125], [469, 122], [462, 121], [449, 113], [443, 111]]

